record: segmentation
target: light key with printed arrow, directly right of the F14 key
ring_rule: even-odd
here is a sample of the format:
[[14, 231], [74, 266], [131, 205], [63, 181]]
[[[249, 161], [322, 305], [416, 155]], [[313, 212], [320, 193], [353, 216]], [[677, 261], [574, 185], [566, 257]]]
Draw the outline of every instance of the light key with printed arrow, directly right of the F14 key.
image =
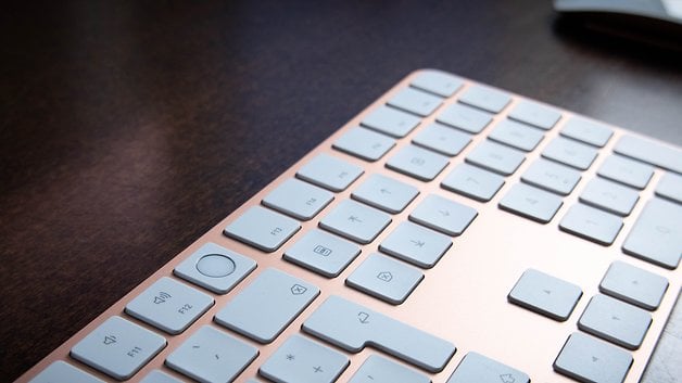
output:
[[391, 216], [351, 200], [341, 201], [319, 226], [349, 240], [367, 244], [391, 222]]

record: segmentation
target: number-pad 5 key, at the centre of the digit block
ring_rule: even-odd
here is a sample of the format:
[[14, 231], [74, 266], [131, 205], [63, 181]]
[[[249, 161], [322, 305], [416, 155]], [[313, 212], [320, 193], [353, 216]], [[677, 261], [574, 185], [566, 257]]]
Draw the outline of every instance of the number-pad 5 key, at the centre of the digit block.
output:
[[580, 178], [580, 171], [543, 158], [535, 159], [521, 176], [526, 183], [561, 195], [568, 195]]

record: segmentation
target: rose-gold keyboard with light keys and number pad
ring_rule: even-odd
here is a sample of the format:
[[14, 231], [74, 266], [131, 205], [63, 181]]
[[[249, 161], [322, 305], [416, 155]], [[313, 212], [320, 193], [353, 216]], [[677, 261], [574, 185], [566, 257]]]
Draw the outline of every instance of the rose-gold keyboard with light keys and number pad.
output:
[[681, 255], [679, 148], [422, 69], [18, 382], [637, 382]]

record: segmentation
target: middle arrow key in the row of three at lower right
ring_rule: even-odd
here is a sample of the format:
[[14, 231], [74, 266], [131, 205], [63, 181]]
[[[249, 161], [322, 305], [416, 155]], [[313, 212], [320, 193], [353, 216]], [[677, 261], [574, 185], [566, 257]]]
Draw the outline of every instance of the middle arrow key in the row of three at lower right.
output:
[[624, 302], [597, 294], [578, 321], [578, 328], [619, 346], [637, 349], [652, 324], [652, 315]]

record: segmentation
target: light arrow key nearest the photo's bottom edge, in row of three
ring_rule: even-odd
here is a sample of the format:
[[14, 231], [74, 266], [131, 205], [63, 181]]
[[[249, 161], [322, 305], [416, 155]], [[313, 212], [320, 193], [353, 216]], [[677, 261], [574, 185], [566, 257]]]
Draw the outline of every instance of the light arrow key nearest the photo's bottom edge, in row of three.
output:
[[582, 383], [622, 383], [632, 355], [622, 348], [574, 332], [554, 360], [554, 370]]

